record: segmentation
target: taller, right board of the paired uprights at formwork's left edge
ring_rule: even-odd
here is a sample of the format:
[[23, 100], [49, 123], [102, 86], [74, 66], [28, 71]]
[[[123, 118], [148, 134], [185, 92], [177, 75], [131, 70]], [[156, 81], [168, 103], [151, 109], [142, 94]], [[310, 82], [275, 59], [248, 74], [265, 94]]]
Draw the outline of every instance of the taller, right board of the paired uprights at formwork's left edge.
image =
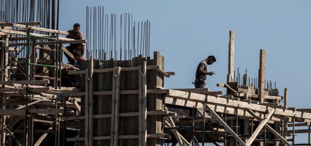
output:
[[89, 145], [93, 145], [93, 71], [94, 62], [93, 56], [90, 60], [90, 74], [89, 74]]

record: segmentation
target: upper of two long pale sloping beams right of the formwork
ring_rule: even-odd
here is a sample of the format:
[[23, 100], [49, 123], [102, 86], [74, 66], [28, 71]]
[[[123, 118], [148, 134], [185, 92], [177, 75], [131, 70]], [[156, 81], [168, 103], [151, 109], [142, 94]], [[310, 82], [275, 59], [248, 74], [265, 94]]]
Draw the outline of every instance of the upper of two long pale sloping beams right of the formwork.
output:
[[[204, 102], [204, 99], [206, 95], [203, 94], [197, 94], [197, 93], [190, 93], [190, 92], [183, 92], [183, 91], [177, 91], [169, 89], [169, 92], [166, 95], [167, 97], [172, 98], [179, 98], [183, 100], [188, 101], [197, 101], [197, 102]], [[244, 101], [235, 101], [230, 99], [225, 99], [221, 97], [213, 97], [207, 95], [207, 103], [214, 104], [214, 105], [220, 105], [220, 106], [226, 106], [226, 107], [235, 107], [240, 109], [250, 109], [252, 111], [258, 111], [265, 113], [267, 109], [269, 109], [268, 106], [248, 103]], [[311, 113], [307, 112], [300, 112], [300, 111], [292, 111], [292, 110], [286, 110], [281, 108], [276, 108], [274, 115], [282, 115], [282, 116], [289, 116], [289, 117], [296, 117], [300, 119], [308, 119], [311, 120]]]

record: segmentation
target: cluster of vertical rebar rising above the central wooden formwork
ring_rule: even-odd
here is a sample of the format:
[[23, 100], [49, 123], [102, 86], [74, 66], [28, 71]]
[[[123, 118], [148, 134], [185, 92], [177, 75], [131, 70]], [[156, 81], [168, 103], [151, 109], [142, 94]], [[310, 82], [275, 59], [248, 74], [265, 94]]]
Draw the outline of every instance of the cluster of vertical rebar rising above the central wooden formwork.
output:
[[[93, 6], [93, 10], [86, 7], [86, 40], [89, 42], [86, 45], [86, 59], [93, 56], [99, 60], [127, 60], [138, 55], [150, 55], [150, 21], [145, 21], [144, 26], [143, 21], [136, 25], [129, 12], [121, 14], [119, 20], [115, 13], [105, 14], [103, 6]], [[120, 44], [117, 45], [117, 42]]]

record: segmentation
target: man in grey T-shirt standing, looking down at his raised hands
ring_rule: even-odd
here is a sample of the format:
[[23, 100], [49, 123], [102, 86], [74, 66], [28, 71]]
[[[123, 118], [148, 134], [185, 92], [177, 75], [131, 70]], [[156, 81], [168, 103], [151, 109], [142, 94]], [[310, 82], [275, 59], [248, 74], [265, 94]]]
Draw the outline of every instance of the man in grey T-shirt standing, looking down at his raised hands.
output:
[[208, 56], [207, 59], [202, 60], [197, 66], [197, 71], [195, 73], [195, 81], [192, 82], [196, 88], [204, 88], [206, 83], [206, 75], [213, 75], [214, 72], [207, 71], [207, 65], [211, 65], [216, 62], [215, 56]]

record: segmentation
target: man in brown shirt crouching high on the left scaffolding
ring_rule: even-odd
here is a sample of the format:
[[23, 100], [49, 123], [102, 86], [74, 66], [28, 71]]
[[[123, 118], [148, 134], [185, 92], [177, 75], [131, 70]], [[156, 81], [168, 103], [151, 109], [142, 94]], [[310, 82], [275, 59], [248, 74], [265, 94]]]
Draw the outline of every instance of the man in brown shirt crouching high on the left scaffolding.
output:
[[[66, 38], [74, 39], [74, 40], [84, 40], [84, 36], [80, 31], [80, 24], [76, 23], [73, 25], [73, 29], [68, 31], [69, 35]], [[68, 59], [69, 64], [75, 64], [75, 61], [79, 62], [83, 60], [84, 55], [84, 43], [80, 44], [70, 44], [70, 46], [66, 47], [69, 52], [71, 52], [74, 56], [74, 59], [70, 58], [69, 55], [65, 53], [65, 56]]]

